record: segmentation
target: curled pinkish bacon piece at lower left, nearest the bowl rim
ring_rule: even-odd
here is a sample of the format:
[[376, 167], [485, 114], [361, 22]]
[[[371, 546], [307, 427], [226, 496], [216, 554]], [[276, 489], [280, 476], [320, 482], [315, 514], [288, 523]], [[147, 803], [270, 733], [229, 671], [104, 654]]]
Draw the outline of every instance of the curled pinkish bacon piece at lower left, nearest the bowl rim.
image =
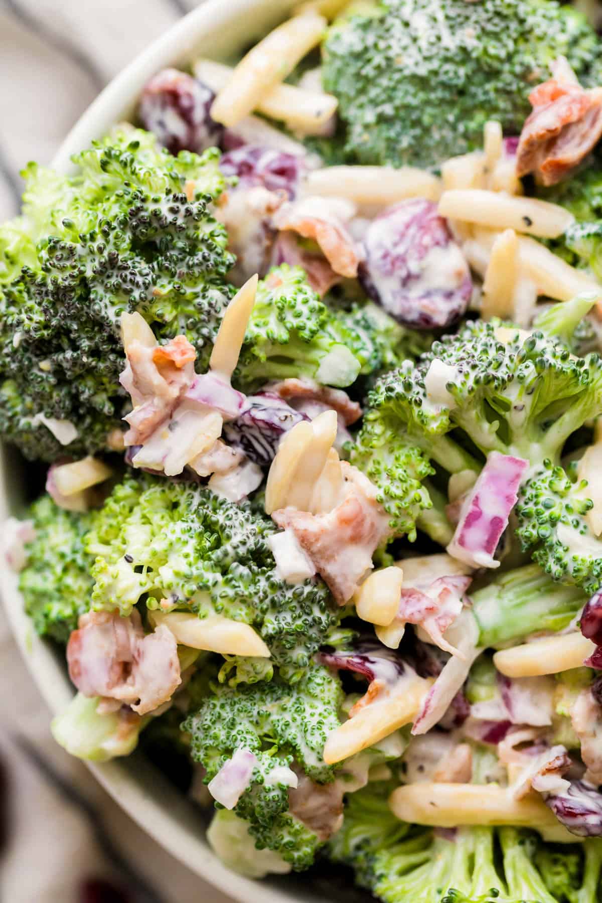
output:
[[145, 635], [137, 610], [90, 611], [67, 644], [69, 677], [85, 696], [103, 696], [153, 712], [181, 683], [178, 647], [165, 625]]

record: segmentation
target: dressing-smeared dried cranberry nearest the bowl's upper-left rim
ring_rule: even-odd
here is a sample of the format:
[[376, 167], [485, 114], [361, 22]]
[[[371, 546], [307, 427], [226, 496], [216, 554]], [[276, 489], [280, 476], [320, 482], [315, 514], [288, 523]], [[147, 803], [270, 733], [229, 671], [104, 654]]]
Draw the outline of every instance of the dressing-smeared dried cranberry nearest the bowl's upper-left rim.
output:
[[164, 69], [143, 88], [138, 117], [171, 154], [200, 154], [217, 147], [224, 132], [210, 116], [214, 92], [199, 79], [177, 69]]

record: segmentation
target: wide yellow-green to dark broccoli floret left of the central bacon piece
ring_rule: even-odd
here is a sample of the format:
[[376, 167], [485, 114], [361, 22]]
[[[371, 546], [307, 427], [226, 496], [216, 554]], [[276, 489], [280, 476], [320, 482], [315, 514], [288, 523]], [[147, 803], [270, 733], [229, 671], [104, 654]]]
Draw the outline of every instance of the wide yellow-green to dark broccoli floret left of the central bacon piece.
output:
[[124, 615], [146, 596], [157, 608], [221, 614], [253, 625], [291, 680], [338, 623], [319, 579], [292, 585], [274, 573], [266, 540], [276, 527], [248, 503], [236, 505], [184, 482], [128, 478], [97, 513], [85, 547], [93, 556], [95, 610]]

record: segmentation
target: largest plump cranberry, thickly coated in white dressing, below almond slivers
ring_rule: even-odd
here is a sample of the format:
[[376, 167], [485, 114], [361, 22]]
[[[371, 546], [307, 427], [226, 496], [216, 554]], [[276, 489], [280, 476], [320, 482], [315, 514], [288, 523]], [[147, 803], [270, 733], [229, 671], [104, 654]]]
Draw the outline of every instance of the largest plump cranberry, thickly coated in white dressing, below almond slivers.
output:
[[403, 200], [366, 229], [359, 279], [366, 293], [414, 329], [449, 326], [472, 293], [468, 263], [430, 200]]

